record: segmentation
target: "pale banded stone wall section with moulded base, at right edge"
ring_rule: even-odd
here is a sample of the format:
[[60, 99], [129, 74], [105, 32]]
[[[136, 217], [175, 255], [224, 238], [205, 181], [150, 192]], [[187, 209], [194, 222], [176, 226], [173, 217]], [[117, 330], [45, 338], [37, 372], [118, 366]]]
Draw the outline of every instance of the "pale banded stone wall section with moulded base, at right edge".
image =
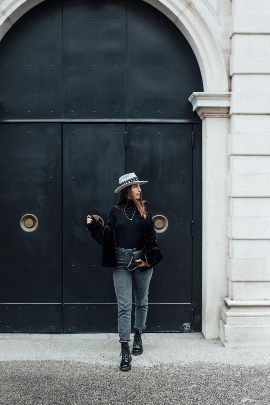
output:
[[225, 347], [270, 345], [270, 1], [232, 0]]

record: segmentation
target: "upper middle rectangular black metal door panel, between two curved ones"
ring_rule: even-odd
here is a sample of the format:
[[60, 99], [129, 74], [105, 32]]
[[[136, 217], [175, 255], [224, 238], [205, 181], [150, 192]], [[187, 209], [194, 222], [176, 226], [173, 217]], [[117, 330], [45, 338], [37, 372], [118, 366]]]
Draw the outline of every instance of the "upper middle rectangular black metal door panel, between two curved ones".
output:
[[64, 119], [123, 119], [125, 0], [64, 0]]

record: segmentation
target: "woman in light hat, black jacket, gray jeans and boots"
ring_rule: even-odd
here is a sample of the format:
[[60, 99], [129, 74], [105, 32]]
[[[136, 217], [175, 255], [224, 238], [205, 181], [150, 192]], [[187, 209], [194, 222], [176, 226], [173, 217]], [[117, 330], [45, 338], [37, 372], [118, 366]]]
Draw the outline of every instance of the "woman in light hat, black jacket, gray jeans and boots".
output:
[[[145, 329], [148, 309], [148, 289], [153, 266], [163, 258], [157, 248], [151, 205], [142, 200], [140, 181], [135, 173], [119, 178], [121, 192], [116, 205], [109, 211], [104, 228], [94, 217], [87, 215], [85, 225], [91, 236], [102, 245], [102, 266], [113, 267], [113, 281], [118, 305], [118, 331], [121, 342], [121, 371], [131, 369], [130, 330], [132, 284], [135, 296], [135, 325], [132, 354], [142, 354], [142, 330]], [[134, 260], [137, 252], [139, 258]]]

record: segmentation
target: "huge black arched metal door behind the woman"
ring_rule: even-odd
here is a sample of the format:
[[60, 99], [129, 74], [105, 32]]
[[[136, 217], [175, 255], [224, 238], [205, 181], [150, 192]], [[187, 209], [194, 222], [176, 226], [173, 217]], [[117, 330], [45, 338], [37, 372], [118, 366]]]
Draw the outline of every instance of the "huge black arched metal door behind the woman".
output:
[[184, 36], [144, 1], [46, 0], [0, 55], [0, 331], [117, 332], [112, 271], [84, 222], [106, 224], [130, 172], [168, 222], [146, 331], [200, 330], [201, 124], [188, 97], [203, 89]]

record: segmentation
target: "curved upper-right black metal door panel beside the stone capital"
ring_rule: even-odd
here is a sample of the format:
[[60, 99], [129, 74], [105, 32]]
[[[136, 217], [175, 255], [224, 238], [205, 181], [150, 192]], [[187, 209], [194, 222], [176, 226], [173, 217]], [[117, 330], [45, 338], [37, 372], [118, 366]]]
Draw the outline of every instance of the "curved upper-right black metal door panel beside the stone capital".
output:
[[199, 122], [188, 101], [194, 91], [202, 79], [183, 34], [150, 4], [127, 0], [128, 117]]

